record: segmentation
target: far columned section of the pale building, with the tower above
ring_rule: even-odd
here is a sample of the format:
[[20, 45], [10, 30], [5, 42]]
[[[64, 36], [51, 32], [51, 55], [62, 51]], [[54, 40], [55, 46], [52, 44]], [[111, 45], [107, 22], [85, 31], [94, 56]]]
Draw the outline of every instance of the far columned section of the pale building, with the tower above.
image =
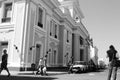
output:
[[74, 61], [86, 61], [89, 58], [89, 44], [87, 38], [89, 33], [82, 24], [84, 15], [80, 9], [78, 0], [60, 0], [62, 11], [72, 18], [72, 57]]

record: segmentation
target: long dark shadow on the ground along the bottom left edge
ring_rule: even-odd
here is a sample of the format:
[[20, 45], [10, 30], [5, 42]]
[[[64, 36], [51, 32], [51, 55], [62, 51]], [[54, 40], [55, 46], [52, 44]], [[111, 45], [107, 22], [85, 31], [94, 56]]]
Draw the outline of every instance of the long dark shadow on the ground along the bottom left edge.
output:
[[54, 80], [57, 78], [53, 78], [53, 77], [44, 77], [44, 76], [40, 76], [40, 77], [34, 77], [34, 76], [4, 76], [4, 75], [0, 75], [0, 80]]

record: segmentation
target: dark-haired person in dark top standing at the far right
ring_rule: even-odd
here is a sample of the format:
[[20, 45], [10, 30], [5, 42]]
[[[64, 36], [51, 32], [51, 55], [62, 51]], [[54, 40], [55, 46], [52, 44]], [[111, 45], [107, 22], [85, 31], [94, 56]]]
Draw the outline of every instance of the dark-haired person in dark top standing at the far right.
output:
[[111, 76], [113, 73], [113, 80], [116, 80], [117, 77], [117, 66], [115, 66], [115, 60], [118, 59], [118, 57], [116, 57], [117, 55], [117, 50], [115, 50], [113, 45], [109, 46], [109, 50], [107, 51], [107, 57], [109, 58], [109, 72], [108, 72], [108, 79], [107, 80], [111, 80]]

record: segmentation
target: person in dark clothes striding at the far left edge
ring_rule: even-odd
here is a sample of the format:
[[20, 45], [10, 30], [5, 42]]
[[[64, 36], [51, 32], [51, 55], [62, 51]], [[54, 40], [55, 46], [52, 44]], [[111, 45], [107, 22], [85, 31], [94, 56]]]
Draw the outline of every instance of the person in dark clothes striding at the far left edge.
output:
[[0, 74], [2, 72], [2, 70], [6, 70], [8, 72], [8, 77], [10, 76], [10, 72], [7, 68], [7, 61], [8, 61], [8, 54], [7, 54], [7, 50], [4, 49], [3, 50], [3, 55], [2, 55], [2, 63], [1, 63], [1, 69], [0, 69]]

